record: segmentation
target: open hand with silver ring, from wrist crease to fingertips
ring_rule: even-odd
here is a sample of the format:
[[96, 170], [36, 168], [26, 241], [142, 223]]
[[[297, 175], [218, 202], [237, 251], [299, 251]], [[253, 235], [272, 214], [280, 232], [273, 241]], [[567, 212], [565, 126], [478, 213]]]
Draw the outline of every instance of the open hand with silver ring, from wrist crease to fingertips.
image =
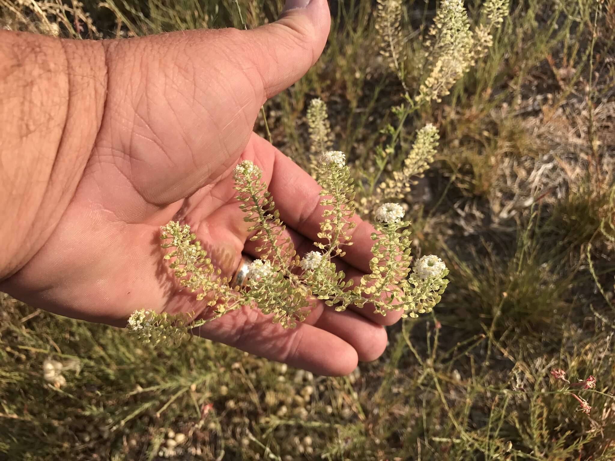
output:
[[[63, 42], [73, 68], [71, 60], [92, 53], [79, 69], [92, 70], [95, 96], [71, 91], [58, 152], [77, 146], [76, 166], [62, 184], [49, 183], [68, 192], [60, 194], [55, 213], [33, 218], [39, 245], [27, 256], [15, 253], [23, 263], [0, 288], [62, 315], [118, 326], [135, 309], [204, 313], [205, 303], [181, 291], [162, 264], [159, 230], [172, 219], [189, 224], [223, 275], [234, 272], [242, 251], [258, 257], [234, 198], [232, 169], [241, 160], [263, 170], [298, 253], [314, 249], [319, 186], [252, 133], [266, 98], [298, 80], [327, 39], [325, 0], [290, 3], [278, 22], [252, 31]], [[94, 108], [83, 111], [94, 116], [80, 120], [79, 108], [89, 104]], [[87, 128], [75, 128], [81, 125]], [[355, 281], [368, 270], [373, 231], [358, 218], [357, 224], [354, 246], [337, 261]], [[30, 227], [23, 232], [27, 237]], [[383, 352], [381, 325], [399, 317], [367, 306], [336, 312], [316, 302], [304, 323], [283, 330], [245, 307], [199, 333], [319, 374], [343, 375], [357, 360]]]

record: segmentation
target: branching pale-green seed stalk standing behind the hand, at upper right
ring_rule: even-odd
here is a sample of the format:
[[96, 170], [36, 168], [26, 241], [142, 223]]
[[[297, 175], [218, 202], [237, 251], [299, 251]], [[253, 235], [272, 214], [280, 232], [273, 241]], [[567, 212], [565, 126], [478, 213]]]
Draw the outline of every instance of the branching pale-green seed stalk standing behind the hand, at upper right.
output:
[[[413, 178], [421, 177], [434, 161], [439, 139], [436, 128], [427, 124], [416, 131], [415, 142], [408, 152], [404, 124], [422, 106], [440, 102], [477, 59], [486, 55], [493, 44], [494, 30], [508, 14], [509, 0], [486, 0], [474, 28], [462, 0], [442, 0], [427, 39], [421, 43], [410, 43], [402, 33], [402, 9], [399, 0], [378, 0], [379, 50], [402, 83], [405, 103], [391, 108], [394, 123], [381, 130], [388, 138], [387, 143], [377, 146], [375, 156], [369, 157], [369, 163], [360, 168], [365, 172], [361, 178], [364, 181], [359, 182], [363, 186], [358, 200], [363, 216], [386, 200], [404, 199], [416, 184]], [[411, 92], [403, 65], [408, 51], [416, 49], [421, 49], [425, 57], [424, 77], [418, 89]]]

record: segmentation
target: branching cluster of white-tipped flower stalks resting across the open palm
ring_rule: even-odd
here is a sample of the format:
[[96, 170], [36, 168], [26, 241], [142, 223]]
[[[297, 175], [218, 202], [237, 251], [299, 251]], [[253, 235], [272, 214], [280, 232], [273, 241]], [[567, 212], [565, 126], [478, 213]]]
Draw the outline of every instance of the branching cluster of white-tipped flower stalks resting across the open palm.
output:
[[[323, 153], [317, 173], [323, 210], [319, 241], [314, 242], [317, 250], [300, 258], [290, 237], [284, 236], [284, 223], [262, 181], [260, 168], [250, 160], [235, 168], [237, 200], [260, 253], [260, 259], [250, 265], [245, 288], [230, 286], [229, 280], [220, 276], [188, 225], [172, 221], [162, 227], [162, 247], [172, 248], [164, 259], [172, 260], [175, 277], [189, 291], [197, 292], [197, 299], [213, 307], [213, 316], [197, 321], [197, 325], [250, 305], [271, 314], [272, 321], [282, 328], [293, 328], [309, 315], [314, 297], [338, 311], [351, 304], [363, 307], [371, 303], [382, 315], [402, 310], [403, 317], [430, 312], [440, 301], [448, 270], [437, 256], [425, 256], [411, 267], [410, 230], [405, 229], [409, 223], [403, 221], [404, 211], [397, 203], [384, 203], [376, 210], [371, 274], [354, 285], [336, 269], [332, 258], [346, 254], [356, 225], [353, 180], [344, 153], [339, 151]], [[177, 336], [173, 328], [194, 328], [188, 318], [141, 310], [133, 313], [129, 328], [146, 341], [157, 342]]]

